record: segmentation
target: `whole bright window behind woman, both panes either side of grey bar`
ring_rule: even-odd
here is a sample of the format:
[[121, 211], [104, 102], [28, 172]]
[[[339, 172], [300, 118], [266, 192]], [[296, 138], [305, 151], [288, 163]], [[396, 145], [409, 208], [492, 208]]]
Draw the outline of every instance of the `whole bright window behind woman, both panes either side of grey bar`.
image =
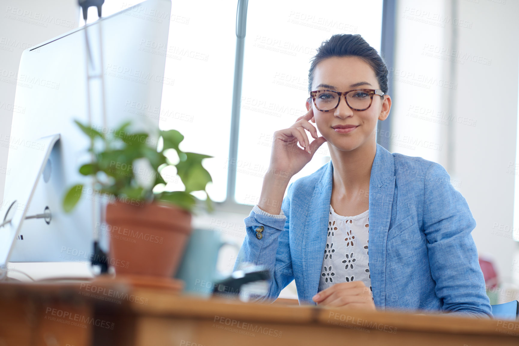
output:
[[[103, 6], [103, 16], [132, 5], [108, 2]], [[236, 192], [229, 198], [226, 191], [237, 2], [172, 4], [168, 39], [171, 54], [166, 60], [165, 77], [175, 82], [163, 86], [161, 114], [171, 116], [161, 116], [160, 128], [176, 129], [185, 135], [183, 150], [214, 157], [203, 163], [213, 178], [207, 188], [211, 199], [257, 203], [269, 165], [272, 134], [290, 127], [306, 113], [310, 58], [322, 41], [336, 33], [361, 34], [380, 50], [382, 5], [382, 0], [347, 0], [333, 6], [310, 0], [249, 2], [236, 181], [231, 181]], [[184, 20], [175, 20], [179, 17]], [[88, 21], [96, 18], [94, 8], [90, 8]], [[293, 179], [315, 172], [328, 159], [323, 144]], [[171, 185], [183, 188], [181, 182], [179, 186]]]

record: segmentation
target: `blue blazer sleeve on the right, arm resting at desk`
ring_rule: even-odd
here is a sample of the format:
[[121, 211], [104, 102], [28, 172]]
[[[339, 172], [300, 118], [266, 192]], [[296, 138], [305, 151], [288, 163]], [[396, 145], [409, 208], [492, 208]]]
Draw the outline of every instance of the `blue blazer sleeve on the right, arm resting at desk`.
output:
[[491, 317], [485, 280], [470, 234], [476, 222], [467, 201], [450, 184], [450, 176], [438, 163], [430, 165], [424, 184], [424, 232], [435, 292], [443, 299], [443, 310]]

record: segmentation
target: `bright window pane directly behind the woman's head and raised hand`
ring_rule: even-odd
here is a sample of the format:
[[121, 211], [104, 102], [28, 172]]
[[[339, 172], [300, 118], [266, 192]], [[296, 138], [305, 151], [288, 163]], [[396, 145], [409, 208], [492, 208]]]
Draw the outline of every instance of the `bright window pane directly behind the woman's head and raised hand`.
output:
[[[275, 9], [275, 10], [272, 10]], [[344, 1], [333, 6], [315, 1], [251, 1], [243, 67], [236, 174], [238, 203], [259, 200], [268, 169], [272, 134], [306, 114], [310, 59], [333, 34], [361, 34], [380, 50], [382, 1]], [[309, 137], [312, 141], [312, 137]], [[323, 144], [292, 180], [327, 162]]]

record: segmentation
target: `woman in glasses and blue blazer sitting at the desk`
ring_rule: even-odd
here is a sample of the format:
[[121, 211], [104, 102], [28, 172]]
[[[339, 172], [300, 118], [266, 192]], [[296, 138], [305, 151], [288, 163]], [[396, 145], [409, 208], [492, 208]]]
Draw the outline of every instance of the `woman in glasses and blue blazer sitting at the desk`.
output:
[[[384, 61], [360, 35], [321, 45], [308, 113], [274, 133], [236, 267], [270, 269], [268, 298], [295, 279], [300, 302], [491, 316], [465, 198], [440, 164], [376, 143], [387, 84]], [[288, 186], [324, 142], [331, 161]]]

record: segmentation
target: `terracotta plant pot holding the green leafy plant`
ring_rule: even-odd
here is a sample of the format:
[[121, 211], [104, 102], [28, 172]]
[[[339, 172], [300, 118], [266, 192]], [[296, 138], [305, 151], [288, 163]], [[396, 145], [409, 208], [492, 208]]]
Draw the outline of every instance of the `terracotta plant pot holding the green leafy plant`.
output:
[[106, 206], [110, 264], [119, 275], [171, 278], [191, 232], [191, 214], [173, 204], [143, 206], [116, 201]]

